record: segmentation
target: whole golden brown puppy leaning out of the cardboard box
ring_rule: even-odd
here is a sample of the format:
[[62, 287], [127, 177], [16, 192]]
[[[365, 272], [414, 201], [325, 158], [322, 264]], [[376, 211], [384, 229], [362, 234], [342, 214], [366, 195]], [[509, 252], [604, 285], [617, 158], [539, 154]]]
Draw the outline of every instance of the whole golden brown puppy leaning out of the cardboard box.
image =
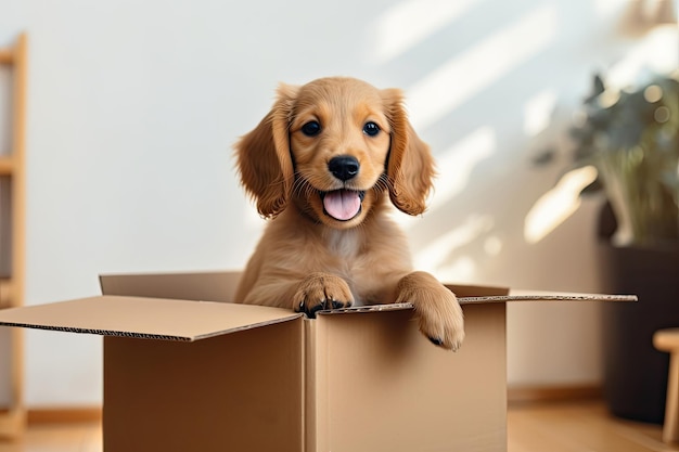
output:
[[353, 78], [281, 85], [271, 112], [236, 144], [241, 182], [271, 221], [236, 301], [318, 310], [412, 302], [420, 330], [456, 350], [464, 338], [454, 295], [413, 272], [388, 198], [420, 215], [432, 189], [428, 146], [399, 90]]

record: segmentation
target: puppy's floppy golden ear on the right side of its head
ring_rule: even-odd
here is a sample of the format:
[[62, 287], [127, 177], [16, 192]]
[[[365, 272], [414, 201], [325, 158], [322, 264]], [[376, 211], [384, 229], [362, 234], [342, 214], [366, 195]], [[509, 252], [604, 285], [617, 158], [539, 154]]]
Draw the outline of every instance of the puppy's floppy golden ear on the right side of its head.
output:
[[430, 146], [415, 133], [400, 90], [382, 90], [387, 117], [392, 126], [392, 145], [387, 164], [389, 197], [401, 211], [420, 215], [426, 209], [426, 198], [433, 188], [434, 159]]

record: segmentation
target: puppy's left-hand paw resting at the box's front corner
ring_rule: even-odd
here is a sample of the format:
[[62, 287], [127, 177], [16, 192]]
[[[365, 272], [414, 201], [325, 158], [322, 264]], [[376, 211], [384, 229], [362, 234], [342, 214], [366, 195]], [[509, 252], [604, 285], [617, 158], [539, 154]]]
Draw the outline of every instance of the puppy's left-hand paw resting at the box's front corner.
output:
[[305, 277], [293, 297], [295, 312], [304, 312], [311, 319], [320, 310], [348, 308], [353, 304], [354, 297], [346, 281], [320, 272]]

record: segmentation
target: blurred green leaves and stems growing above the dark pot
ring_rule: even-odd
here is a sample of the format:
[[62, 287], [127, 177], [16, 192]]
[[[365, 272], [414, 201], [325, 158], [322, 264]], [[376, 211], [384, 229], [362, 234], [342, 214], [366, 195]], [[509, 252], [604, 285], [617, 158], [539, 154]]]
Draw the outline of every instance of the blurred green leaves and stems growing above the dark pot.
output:
[[630, 90], [594, 77], [584, 120], [572, 129], [575, 160], [597, 168], [611, 204], [617, 245], [679, 240], [679, 70]]

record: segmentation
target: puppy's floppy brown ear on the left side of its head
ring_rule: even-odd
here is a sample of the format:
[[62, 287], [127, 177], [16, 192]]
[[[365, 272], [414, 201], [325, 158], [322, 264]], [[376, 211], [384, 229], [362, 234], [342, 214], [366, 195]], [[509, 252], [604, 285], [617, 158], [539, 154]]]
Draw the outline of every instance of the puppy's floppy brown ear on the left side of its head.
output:
[[265, 218], [285, 209], [293, 185], [289, 129], [298, 88], [281, 83], [271, 111], [235, 143], [241, 183]]

